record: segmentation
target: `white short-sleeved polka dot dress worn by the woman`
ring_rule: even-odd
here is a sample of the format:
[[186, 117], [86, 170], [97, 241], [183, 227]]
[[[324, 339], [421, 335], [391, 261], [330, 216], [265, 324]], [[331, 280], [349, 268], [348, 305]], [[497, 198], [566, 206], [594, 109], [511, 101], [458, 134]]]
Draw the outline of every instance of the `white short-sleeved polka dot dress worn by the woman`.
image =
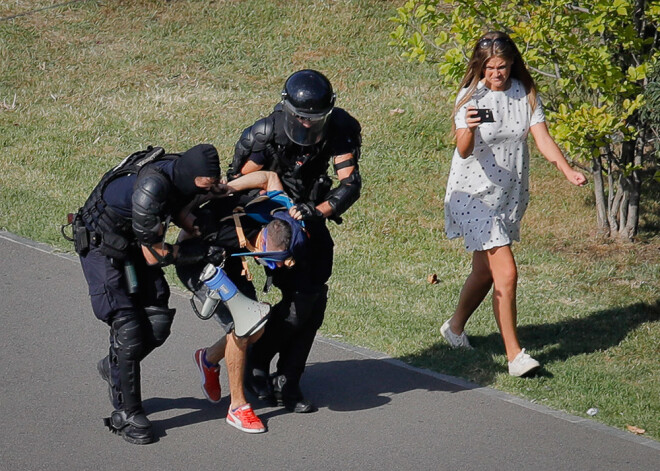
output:
[[[457, 101], [464, 95], [461, 90]], [[474, 150], [463, 159], [454, 151], [445, 194], [447, 237], [463, 237], [469, 252], [502, 247], [520, 240], [520, 220], [529, 202], [530, 126], [545, 121], [537, 99], [534, 113], [525, 87], [516, 79], [506, 91], [479, 84], [474, 95], [456, 113], [456, 129], [467, 128], [468, 106], [490, 108], [494, 123], [475, 131]]]

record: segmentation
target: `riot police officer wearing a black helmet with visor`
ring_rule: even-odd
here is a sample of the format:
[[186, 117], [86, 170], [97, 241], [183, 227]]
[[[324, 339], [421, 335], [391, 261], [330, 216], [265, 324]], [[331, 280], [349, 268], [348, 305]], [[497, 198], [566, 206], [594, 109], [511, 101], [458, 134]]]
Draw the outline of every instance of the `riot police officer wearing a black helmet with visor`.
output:
[[[286, 80], [274, 111], [243, 131], [228, 171], [230, 180], [260, 169], [277, 172], [295, 203], [292, 215], [302, 218], [310, 235], [314, 258], [306, 268], [273, 273], [282, 300], [248, 356], [248, 388], [291, 411], [313, 410], [299, 383], [327, 304], [334, 243], [326, 219], [340, 223], [360, 197], [360, 147], [360, 124], [335, 106], [330, 81], [318, 71], [300, 70]], [[339, 180], [334, 188], [330, 165]], [[269, 376], [277, 354], [277, 371]]]

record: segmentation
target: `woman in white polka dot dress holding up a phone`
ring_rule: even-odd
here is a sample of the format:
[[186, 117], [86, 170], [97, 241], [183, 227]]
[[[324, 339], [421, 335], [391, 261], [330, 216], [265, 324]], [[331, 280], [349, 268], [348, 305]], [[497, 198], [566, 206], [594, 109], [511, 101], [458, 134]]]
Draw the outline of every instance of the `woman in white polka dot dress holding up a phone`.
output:
[[[477, 109], [492, 114], [482, 120]], [[511, 38], [481, 37], [461, 83], [453, 113], [456, 150], [445, 195], [445, 230], [472, 252], [472, 272], [454, 315], [440, 329], [453, 347], [471, 348], [464, 328], [493, 287], [493, 311], [502, 334], [509, 374], [525, 376], [540, 364], [520, 347], [516, 333], [518, 272], [511, 251], [529, 202], [527, 134], [543, 156], [575, 185], [574, 171], [548, 133], [534, 81]]]

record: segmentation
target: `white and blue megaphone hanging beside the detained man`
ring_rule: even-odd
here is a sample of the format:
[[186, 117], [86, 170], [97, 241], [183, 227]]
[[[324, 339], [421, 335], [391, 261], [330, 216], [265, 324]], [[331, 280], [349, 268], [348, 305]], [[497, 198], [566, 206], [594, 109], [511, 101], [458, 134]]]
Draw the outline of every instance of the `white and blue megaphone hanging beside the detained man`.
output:
[[270, 304], [254, 301], [241, 293], [225, 271], [212, 264], [206, 265], [199, 276], [208, 288], [202, 306], [202, 319], [208, 319], [220, 301], [225, 303], [234, 319], [237, 337], [248, 337], [263, 328], [270, 314]]

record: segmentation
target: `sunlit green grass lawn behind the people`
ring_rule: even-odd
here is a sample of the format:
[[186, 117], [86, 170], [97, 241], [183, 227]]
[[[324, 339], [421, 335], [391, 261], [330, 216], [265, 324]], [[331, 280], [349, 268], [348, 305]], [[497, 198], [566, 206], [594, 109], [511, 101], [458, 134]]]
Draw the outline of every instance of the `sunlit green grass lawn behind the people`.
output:
[[[0, 18], [58, 3], [0, 0]], [[520, 338], [542, 374], [506, 374], [489, 302], [468, 324], [474, 351], [439, 340], [469, 272], [461, 242], [443, 232], [454, 91], [387, 46], [396, 6], [86, 1], [0, 20], [0, 228], [71, 250], [59, 235], [65, 214], [122, 157], [211, 142], [226, 166], [286, 77], [316, 68], [363, 125], [365, 182], [345, 223], [331, 224], [322, 333], [579, 416], [598, 407], [595, 420], [660, 439], [657, 188], [643, 201], [639, 243], [602, 241], [592, 189], [534, 156], [514, 253]]]

